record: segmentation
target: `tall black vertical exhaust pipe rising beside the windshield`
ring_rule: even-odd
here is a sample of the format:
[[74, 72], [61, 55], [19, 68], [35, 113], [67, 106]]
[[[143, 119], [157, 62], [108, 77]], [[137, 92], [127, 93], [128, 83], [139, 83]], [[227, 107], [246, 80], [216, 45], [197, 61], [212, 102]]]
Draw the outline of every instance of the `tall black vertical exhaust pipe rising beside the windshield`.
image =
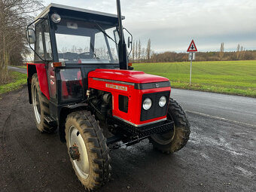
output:
[[120, 66], [120, 69], [127, 70], [128, 58], [127, 58], [126, 44], [123, 36], [123, 23], [122, 23], [120, 0], [117, 0], [117, 17], [118, 17], [119, 37], [120, 37], [120, 40], [118, 43], [119, 66]]

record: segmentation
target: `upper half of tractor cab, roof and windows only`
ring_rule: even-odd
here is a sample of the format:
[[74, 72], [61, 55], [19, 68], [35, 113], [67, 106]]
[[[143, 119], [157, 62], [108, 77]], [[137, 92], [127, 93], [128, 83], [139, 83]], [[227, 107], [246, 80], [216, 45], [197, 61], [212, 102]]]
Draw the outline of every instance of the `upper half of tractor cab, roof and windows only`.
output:
[[50, 4], [33, 24], [35, 61], [119, 64], [115, 15]]

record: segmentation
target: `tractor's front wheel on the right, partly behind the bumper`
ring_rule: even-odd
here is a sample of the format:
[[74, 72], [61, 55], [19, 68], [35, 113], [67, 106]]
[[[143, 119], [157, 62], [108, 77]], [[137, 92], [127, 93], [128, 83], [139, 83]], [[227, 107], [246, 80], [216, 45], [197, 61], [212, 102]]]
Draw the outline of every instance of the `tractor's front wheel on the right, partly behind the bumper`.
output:
[[174, 121], [174, 130], [163, 134], [154, 134], [150, 141], [154, 148], [169, 154], [180, 150], [187, 144], [190, 135], [190, 123], [187, 115], [174, 99], [169, 99], [167, 119]]

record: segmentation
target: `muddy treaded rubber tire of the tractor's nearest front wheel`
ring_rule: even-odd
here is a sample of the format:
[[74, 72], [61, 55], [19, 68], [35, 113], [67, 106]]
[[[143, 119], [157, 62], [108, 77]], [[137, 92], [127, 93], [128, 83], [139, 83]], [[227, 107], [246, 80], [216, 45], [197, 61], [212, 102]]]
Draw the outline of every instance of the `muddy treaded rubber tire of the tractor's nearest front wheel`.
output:
[[[102, 129], [99, 127], [99, 122], [96, 121], [94, 115], [90, 113], [90, 111], [75, 111], [72, 114], [69, 114], [66, 118], [66, 122], [70, 119], [75, 119], [79, 126], [82, 128], [82, 134], [85, 135], [85, 142], [90, 143], [90, 154], [93, 156], [92, 160], [92, 169], [93, 173], [89, 176], [84, 187], [87, 190], [96, 190], [105, 184], [106, 181], [110, 178], [110, 158], [108, 156], [108, 146], [106, 144], [106, 139], [103, 136]], [[66, 126], [66, 140], [68, 141], [68, 128]], [[68, 146], [68, 143], [67, 143]], [[69, 148], [69, 146], [68, 146]], [[93, 155], [94, 154], [94, 155]], [[73, 166], [74, 167], [74, 166]], [[77, 172], [76, 172], [77, 174]], [[78, 174], [77, 174], [78, 175]], [[79, 178], [79, 175], [78, 175]]]

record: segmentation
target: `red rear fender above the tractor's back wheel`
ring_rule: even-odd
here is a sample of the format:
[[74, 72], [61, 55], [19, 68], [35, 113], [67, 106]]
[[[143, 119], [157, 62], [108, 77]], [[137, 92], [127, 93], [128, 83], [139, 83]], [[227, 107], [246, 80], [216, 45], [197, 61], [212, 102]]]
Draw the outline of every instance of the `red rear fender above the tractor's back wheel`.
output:
[[38, 81], [39, 81], [41, 93], [43, 93], [44, 96], [47, 97], [47, 99], [50, 99], [45, 64], [44, 63], [36, 63], [36, 64], [35, 63], [26, 63], [27, 75], [28, 75], [28, 78], [30, 78], [30, 81], [31, 81], [32, 76], [29, 75], [29, 65], [35, 66], [36, 72], [38, 74]]

